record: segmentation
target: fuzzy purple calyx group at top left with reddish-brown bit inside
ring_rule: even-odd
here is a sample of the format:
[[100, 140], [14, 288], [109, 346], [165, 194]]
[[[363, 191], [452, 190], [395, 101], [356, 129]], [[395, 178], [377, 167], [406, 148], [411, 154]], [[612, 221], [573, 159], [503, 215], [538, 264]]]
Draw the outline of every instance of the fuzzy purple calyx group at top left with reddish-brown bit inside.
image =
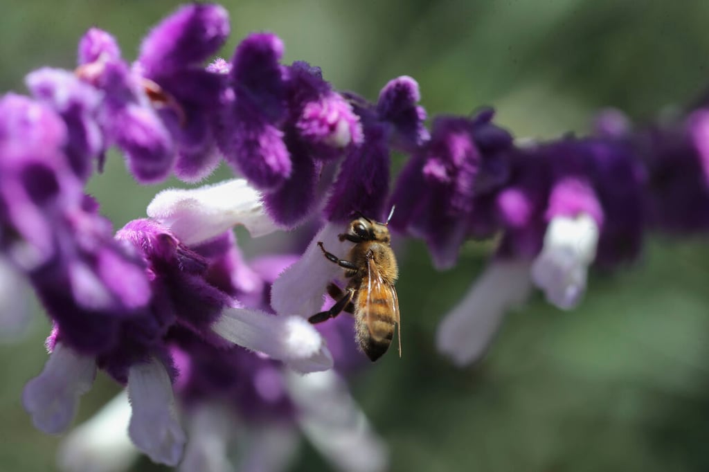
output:
[[[82, 38], [77, 75], [102, 92], [97, 120], [105, 145], [125, 152], [138, 181], [161, 181], [173, 169], [181, 179], [198, 181], [218, 164], [215, 135], [226, 77], [205, 62], [228, 33], [221, 6], [183, 6], [147, 35], [133, 67], [108, 33], [92, 28]], [[66, 89], [51, 82], [52, 89]]]

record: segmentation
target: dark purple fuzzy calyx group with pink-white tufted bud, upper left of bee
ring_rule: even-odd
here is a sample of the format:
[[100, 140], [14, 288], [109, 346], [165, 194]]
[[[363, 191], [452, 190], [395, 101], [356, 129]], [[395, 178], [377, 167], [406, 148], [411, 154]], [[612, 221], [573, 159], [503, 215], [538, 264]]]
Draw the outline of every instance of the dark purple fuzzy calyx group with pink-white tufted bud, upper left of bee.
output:
[[270, 33], [250, 35], [237, 47], [219, 142], [227, 161], [264, 191], [272, 218], [294, 227], [323, 198], [318, 186], [329, 183], [319, 183], [323, 167], [359, 145], [362, 130], [320, 69], [306, 62], [283, 66], [282, 54], [281, 40]]

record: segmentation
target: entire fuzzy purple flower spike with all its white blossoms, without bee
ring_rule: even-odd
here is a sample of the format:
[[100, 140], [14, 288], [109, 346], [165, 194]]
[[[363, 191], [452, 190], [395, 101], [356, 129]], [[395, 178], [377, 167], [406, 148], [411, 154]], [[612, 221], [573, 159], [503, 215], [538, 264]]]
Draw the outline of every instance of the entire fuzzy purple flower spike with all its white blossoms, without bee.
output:
[[[245, 434], [240, 469], [279, 470], [296, 427], [337, 468], [386, 468], [343, 377], [362, 359], [352, 320], [307, 322], [343, 277], [317, 243], [345, 257], [352, 243], [338, 234], [358, 212], [382, 220], [396, 206], [391, 228], [425, 240], [439, 269], [464, 242], [498, 238], [437, 332], [457, 364], [481, 356], [532, 286], [574, 308], [591, 265], [634, 261], [651, 230], [709, 227], [707, 111], [637, 129], [608, 111], [592, 135], [549, 142], [515, 142], [492, 109], [436, 116], [429, 131], [411, 77], [370, 103], [335, 91], [318, 67], [281, 64], [271, 33], [214, 58], [229, 33], [225, 9], [190, 4], [129, 64], [92, 28], [74, 71], [39, 69], [30, 96], [0, 99], [2, 285], [26, 279], [53, 323], [25, 408], [57, 433], [97, 369], [127, 392], [69, 434], [65, 470], [116, 470], [134, 446], [185, 471], [229, 470]], [[84, 193], [111, 147], [140, 184], [201, 181], [222, 158], [241, 178], [162, 191], [149, 218], [116, 232]], [[409, 157], [390, 192], [392, 151]], [[303, 254], [250, 262], [232, 231], [303, 223], [317, 228]], [[5, 299], [0, 310], [21, 310]]]

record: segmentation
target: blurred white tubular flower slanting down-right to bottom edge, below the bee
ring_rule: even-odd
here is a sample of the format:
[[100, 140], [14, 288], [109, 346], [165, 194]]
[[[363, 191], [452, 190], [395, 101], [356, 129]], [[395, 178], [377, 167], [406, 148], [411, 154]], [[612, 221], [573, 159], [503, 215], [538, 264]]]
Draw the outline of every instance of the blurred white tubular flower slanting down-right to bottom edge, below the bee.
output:
[[291, 398], [298, 407], [297, 421], [313, 446], [345, 472], [386, 470], [384, 442], [372, 431], [367, 417], [350, 396], [345, 381], [335, 371], [286, 377]]

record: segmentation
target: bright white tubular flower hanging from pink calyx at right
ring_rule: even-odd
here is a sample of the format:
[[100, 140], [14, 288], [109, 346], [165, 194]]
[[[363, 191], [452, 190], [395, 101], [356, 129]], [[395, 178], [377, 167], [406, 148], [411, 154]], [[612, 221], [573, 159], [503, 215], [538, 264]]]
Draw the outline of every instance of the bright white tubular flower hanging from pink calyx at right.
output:
[[576, 307], [586, 291], [588, 266], [596, 258], [598, 223], [586, 213], [552, 218], [532, 279], [547, 300], [563, 310]]

